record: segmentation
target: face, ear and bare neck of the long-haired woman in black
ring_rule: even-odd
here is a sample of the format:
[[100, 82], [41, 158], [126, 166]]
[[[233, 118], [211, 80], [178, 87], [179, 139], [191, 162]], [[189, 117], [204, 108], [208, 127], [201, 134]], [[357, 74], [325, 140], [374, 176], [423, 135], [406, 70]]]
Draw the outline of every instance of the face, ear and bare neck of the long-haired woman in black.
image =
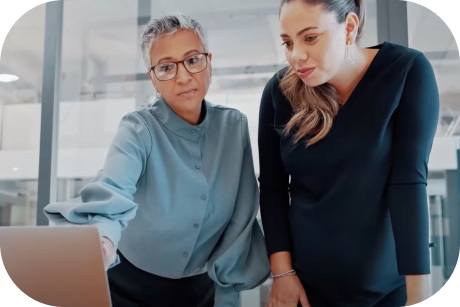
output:
[[[378, 50], [356, 45], [359, 19], [349, 13], [338, 23], [321, 5], [293, 1], [280, 12], [281, 39], [289, 65], [308, 86], [329, 83], [342, 103], [350, 96]], [[346, 46], [352, 60], [346, 57]]]

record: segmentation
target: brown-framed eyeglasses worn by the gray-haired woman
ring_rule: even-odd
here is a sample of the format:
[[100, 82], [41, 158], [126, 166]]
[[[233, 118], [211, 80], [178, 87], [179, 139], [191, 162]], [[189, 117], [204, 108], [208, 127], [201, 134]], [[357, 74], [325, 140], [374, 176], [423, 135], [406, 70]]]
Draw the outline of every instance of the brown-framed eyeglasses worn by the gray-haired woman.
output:
[[153, 71], [155, 77], [160, 81], [168, 81], [176, 77], [177, 65], [179, 63], [184, 64], [185, 69], [192, 74], [202, 72], [208, 66], [208, 54], [209, 53], [197, 53], [189, 56], [188, 58], [170, 63], [160, 63], [152, 66], [150, 70]]

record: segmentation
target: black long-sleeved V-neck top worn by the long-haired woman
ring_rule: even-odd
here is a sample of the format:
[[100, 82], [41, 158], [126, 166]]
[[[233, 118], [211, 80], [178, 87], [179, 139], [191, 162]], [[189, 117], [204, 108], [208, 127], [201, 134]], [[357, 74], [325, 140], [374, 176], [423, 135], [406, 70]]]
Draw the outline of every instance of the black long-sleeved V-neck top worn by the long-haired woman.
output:
[[259, 181], [269, 254], [290, 251], [317, 289], [378, 299], [402, 275], [430, 271], [426, 179], [439, 94], [421, 52], [371, 48], [379, 51], [331, 131], [309, 147], [282, 132], [293, 114], [279, 89], [284, 70], [267, 83]]

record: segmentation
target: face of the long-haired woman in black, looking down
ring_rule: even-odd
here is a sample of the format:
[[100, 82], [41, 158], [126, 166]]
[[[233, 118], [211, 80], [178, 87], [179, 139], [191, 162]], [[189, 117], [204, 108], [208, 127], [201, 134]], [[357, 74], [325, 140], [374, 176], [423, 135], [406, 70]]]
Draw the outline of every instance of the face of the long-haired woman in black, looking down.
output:
[[303, 1], [284, 4], [280, 12], [281, 39], [289, 66], [308, 86], [330, 82], [340, 72], [347, 42], [346, 23], [334, 12]]

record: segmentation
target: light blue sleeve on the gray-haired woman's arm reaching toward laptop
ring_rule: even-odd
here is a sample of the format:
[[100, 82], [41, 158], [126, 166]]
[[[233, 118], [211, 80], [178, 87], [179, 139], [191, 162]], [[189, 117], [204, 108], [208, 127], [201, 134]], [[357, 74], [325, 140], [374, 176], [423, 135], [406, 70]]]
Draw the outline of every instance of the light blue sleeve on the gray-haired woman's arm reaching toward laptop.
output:
[[104, 167], [79, 196], [44, 208], [52, 225], [94, 225], [118, 246], [121, 230], [135, 215], [136, 184], [145, 171], [152, 138], [135, 113], [125, 115], [110, 145]]

